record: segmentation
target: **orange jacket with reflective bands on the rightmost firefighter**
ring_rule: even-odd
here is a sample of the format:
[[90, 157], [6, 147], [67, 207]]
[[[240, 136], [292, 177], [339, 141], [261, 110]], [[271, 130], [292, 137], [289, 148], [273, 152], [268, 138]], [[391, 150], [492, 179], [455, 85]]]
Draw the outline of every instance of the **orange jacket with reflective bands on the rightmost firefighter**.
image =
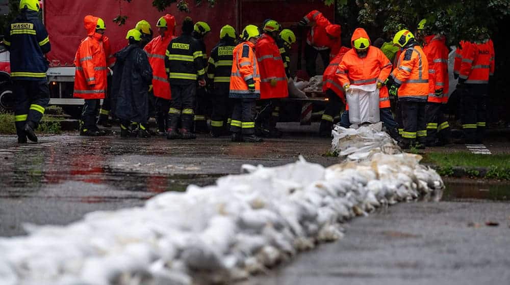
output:
[[470, 84], [487, 84], [494, 73], [494, 48], [489, 40], [468, 43], [463, 48], [459, 78]]

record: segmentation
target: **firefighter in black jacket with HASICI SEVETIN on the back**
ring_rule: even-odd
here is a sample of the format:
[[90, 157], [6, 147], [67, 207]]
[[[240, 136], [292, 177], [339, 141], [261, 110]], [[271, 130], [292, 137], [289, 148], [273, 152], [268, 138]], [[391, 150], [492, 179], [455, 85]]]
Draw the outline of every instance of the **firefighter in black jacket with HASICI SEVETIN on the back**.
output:
[[228, 133], [227, 126], [232, 115], [233, 102], [228, 99], [230, 75], [232, 71], [232, 52], [236, 47], [236, 30], [224, 25], [220, 30], [220, 42], [211, 50], [207, 77], [212, 82], [213, 113], [211, 116], [211, 135]]

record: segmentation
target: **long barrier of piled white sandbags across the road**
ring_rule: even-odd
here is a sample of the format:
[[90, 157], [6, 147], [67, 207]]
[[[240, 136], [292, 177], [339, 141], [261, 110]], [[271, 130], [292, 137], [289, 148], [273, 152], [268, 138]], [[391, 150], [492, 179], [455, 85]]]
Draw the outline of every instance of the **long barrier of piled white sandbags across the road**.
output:
[[163, 193], [144, 207], [27, 225], [28, 236], [0, 239], [0, 283], [230, 283], [342, 238], [342, 223], [355, 216], [441, 196], [440, 176], [380, 125], [333, 135], [343, 162], [327, 168], [302, 157], [243, 165], [245, 174]]

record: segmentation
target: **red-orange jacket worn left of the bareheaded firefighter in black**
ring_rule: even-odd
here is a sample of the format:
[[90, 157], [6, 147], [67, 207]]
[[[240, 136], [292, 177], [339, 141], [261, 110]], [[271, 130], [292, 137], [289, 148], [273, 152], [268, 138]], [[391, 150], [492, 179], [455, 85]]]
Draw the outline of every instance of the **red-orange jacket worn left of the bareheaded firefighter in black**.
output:
[[152, 67], [152, 92], [154, 92], [154, 96], [170, 100], [172, 93], [167, 79], [168, 75], [165, 71], [165, 53], [168, 44], [175, 38], [173, 36], [175, 17], [166, 14], [163, 18], [167, 25], [164, 36], [152, 39], [143, 49], [147, 53], [150, 67]]

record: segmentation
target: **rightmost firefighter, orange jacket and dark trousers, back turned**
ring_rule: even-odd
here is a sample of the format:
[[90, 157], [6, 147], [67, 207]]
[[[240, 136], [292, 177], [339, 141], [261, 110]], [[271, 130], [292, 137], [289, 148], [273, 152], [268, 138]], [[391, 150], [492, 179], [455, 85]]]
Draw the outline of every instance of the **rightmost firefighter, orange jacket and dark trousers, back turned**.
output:
[[463, 47], [458, 75], [462, 91], [462, 128], [467, 144], [483, 143], [487, 119], [489, 78], [494, 74], [494, 47], [486, 29], [477, 29], [478, 41]]

